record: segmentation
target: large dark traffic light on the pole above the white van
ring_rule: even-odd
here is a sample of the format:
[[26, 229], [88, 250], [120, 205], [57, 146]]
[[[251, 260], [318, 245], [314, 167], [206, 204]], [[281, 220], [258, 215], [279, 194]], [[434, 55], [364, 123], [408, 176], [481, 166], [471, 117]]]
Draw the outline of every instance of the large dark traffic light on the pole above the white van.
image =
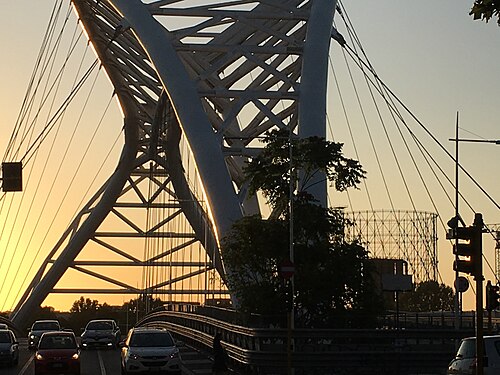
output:
[[[452, 220], [448, 223], [450, 224]], [[482, 216], [474, 220], [474, 224], [468, 227], [453, 226], [446, 235], [446, 239], [457, 240], [453, 244], [453, 253], [458, 257], [468, 259], [457, 259], [453, 262], [453, 270], [468, 273], [474, 277], [482, 277]]]

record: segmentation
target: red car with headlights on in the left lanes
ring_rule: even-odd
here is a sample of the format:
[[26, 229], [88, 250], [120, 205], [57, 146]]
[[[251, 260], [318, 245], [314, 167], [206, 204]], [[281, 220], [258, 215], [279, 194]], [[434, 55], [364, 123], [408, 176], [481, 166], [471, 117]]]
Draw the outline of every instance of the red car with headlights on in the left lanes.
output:
[[46, 332], [35, 353], [35, 375], [80, 375], [80, 348], [73, 332]]

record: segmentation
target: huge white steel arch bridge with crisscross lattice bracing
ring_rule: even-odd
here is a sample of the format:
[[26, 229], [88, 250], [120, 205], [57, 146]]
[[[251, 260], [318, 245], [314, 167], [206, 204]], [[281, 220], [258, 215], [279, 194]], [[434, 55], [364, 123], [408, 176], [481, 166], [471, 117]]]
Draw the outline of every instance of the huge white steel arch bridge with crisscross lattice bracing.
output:
[[[260, 212], [243, 180], [245, 161], [261, 147], [258, 138], [278, 128], [299, 137], [325, 136], [336, 1], [71, 3], [120, 102], [125, 141], [116, 170], [20, 299], [12, 315], [19, 325], [49, 293], [172, 294], [169, 286], [209, 270], [225, 282], [219, 240], [235, 220]], [[326, 182], [315, 186], [326, 204]], [[137, 212], [147, 212], [146, 228]], [[172, 225], [179, 218], [184, 224]], [[105, 224], [110, 220], [115, 225]], [[164, 249], [161, 242], [140, 259], [122, 247], [134, 239], [170, 245]], [[81, 260], [90, 244], [116, 259]], [[195, 244], [208, 261], [167, 261]], [[189, 271], [168, 271], [186, 265]], [[144, 276], [147, 286], [139, 288], [95, 270], [101, 266], [163, 271]], [[56, 289], [70, 269], [114, 288]]]

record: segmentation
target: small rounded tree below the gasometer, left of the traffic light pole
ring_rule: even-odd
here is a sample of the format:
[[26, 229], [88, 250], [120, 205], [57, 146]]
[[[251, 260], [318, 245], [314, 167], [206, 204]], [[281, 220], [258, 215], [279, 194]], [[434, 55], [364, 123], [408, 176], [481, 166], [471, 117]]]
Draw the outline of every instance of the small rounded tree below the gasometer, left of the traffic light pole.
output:
[[401, 310], [414, 312], [452, 311], [453, 289], [437, 281], [423, 281], [415, 291], [400, 295], [399, 306]]

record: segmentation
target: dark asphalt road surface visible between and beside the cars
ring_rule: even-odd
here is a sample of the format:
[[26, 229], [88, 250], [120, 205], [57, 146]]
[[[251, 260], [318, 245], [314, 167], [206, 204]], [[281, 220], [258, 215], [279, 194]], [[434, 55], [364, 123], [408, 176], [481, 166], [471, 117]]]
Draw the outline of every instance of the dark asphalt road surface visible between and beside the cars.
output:
[[[35, 373], [34, 352], [28, 350], [26, 339], [19, 340], [19, 364], [15, 367], [0, 367], [2, 375], [33, 375]], [[183, 374], [210, 374], [210, 359], [196, 350], [182, 346]], [[84, 350], [81, 352], [81, 375], [119, 375], [120, 351]]]

